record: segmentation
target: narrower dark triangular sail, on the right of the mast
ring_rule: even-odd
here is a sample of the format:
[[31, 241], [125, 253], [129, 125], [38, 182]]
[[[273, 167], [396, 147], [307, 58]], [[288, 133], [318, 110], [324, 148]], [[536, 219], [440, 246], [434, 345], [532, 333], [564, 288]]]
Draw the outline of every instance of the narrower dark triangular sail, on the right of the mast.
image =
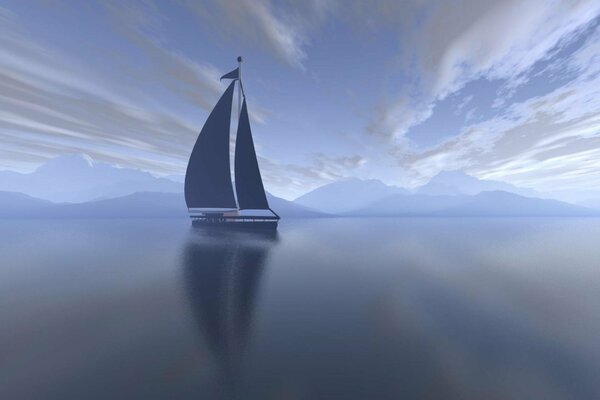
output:
[[235, 141], [235, 191], [237, 193], [240, 210], [267, 210], [269, 203], [265, 195], [265, 188], [260, 177], [246, 99], [242, 104], [242, 112], [238, 123], [237, 138]]

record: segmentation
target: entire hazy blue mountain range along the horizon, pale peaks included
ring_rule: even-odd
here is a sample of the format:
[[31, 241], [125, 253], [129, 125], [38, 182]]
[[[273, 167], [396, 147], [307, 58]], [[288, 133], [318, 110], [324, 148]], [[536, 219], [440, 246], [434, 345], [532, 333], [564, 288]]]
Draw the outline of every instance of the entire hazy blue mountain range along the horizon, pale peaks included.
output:
[[[442, 172], [411, 191], [378, 180], [351, 179], [319, 187], [294, 201], [267, 194], [282, 217], [323, 216], [591, 216], [596, 203], [539, 198], [530, 189]], [[593, 204], [592, 204], [593, 203]], [[185, 217], [181, 176], [61, 156], [34, 172], [0, 171], [0, 217]]]

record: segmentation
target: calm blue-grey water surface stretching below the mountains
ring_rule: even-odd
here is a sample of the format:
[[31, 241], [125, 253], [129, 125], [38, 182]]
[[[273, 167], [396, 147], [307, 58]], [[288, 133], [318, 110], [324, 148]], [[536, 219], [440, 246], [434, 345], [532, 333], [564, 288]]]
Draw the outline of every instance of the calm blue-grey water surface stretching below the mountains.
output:
[[1, 399], [600, 398], [600, 219], [0, 238]]

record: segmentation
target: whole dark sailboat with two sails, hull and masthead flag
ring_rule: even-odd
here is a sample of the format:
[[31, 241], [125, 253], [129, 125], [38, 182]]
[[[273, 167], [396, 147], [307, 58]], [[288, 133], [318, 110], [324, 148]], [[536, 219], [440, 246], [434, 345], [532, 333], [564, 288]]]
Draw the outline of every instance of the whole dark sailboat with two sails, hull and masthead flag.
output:
[[[279, 215], [269, 207], [250, 129], [242, 86], [242, 58], [223, 75], [231, 83], [208, 116], [190, 155], [185, 174], [185, 202], [194, 226], [276, 229]], [[235, 141], [235, 191], [229, 157], [230, 124], [238, 84]]]

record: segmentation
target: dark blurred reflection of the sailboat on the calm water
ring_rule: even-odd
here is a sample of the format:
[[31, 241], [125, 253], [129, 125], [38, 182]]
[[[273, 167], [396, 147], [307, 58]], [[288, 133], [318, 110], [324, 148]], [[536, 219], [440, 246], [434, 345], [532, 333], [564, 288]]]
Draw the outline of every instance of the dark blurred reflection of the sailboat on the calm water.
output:
[[242, 398], [243, 355], [264, 263], [277, 241], [277, 231], [192, 229], [184, 279], [194, 319], [216, 364], [216, 382], [205, 388], [211, 398]]

